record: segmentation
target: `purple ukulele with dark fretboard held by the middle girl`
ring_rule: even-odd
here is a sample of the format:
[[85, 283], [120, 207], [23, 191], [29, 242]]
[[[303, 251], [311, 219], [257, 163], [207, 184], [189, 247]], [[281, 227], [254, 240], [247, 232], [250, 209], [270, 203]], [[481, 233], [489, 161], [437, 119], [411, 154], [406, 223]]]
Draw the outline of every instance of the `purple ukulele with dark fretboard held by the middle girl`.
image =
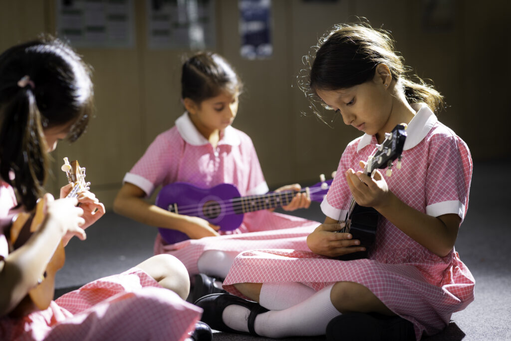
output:
[[[308, 193], [311, 200], [322, 201], [332, 180], [324, 180], [299, 192]], [[177, 214], [203, 218], [222, 231], [236, 230], [246, 212], [260, 211], [291, 202], [297, 191], [269, 192], [263, 195], [242, 197], [234, 185], [220, 184], [210, 189], [198, 188], [188, 183], [173, 183], [161, 189], [156, 197], [156, 206]], [[161, 237], [169, 244], [190, 239], [186, 234], [158, 228]]]

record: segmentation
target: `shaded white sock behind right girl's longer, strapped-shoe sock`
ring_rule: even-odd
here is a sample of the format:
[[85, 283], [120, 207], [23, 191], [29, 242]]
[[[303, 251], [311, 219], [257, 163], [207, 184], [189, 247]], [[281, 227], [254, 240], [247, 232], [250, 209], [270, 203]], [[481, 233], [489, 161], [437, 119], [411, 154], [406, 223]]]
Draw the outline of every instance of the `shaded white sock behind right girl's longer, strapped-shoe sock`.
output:
[[307, 300], [316, 293], [299, 282], [263, 283], [259, 304], [268, 310], [283, 310]]

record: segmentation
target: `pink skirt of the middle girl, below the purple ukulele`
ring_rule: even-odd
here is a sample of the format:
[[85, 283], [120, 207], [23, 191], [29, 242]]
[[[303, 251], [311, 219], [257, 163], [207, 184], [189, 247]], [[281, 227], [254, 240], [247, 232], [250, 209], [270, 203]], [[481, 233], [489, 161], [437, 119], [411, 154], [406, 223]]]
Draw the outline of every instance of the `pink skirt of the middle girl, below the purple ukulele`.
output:
[[233, 234], [189, 239], [175, 244], [165, 244], [158, 234], [154, 254], [177, 257], [187, 267], [190, 276], [193, 276], [199, 272], [199, 257], [208, 250], [241, 253], [258, 248], [292, 248], [309, 251], [306, 237], [319, 224], [317, 221], [266, 210], [252, 212], [245, 214], [243, 224]]

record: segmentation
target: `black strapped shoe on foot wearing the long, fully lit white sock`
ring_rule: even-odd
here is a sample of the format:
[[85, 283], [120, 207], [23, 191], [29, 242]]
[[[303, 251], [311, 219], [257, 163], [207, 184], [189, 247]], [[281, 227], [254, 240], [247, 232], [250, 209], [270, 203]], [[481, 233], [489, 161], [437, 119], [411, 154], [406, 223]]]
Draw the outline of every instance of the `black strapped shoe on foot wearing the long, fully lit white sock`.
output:
[[[240, 305], [250, 310], [250, 314], [248, 315], [248, 333], [229, 328], [223, 322], [222, 313], [224, 309], [233, 304]], [[204, 310], [200, 320], [210, 325], [211, 328], [228, 333], [250, 334], [253, 336], [259, 336], [254, 330], [255, 317], [268, 311], [268, 309], [263, 308], [257, 302], [247, 301], [229, 293], [213, 293], [206, 295], [198, 299], [195, 305]]]

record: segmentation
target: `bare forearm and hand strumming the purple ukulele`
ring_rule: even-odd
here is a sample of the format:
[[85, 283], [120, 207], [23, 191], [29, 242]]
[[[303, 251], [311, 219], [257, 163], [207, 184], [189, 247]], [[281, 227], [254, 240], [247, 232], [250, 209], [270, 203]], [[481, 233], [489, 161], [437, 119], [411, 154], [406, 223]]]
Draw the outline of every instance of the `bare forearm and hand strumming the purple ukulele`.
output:
[[180, 215], [157, 207], [144, 200], [146, 193], [138, 186], [125, 183], [115, 200], [113, 210], [146, 225], [173, 229], [192, 239], [218, 236], [218, 226], [198, 217]]

